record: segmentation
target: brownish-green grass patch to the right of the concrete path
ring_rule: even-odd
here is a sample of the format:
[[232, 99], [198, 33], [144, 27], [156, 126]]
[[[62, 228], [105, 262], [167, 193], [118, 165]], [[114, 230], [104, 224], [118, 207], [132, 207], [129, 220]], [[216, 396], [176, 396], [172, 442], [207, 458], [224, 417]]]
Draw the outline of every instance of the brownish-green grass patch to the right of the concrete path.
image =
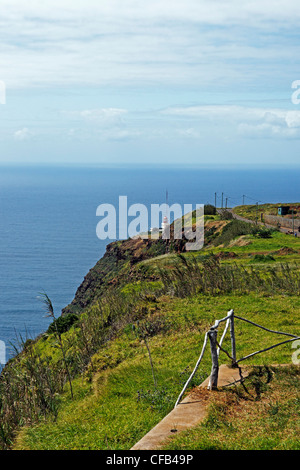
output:
[[256, 367], [245, 383], [214, 393], [206, 420], [164, 449], [299, 450], [299, 367]]

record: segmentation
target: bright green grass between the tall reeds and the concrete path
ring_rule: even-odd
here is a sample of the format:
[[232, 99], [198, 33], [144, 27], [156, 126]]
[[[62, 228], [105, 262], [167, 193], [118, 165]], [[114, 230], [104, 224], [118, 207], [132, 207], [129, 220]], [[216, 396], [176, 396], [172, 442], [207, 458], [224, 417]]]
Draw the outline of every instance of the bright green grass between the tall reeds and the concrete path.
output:
[[[300, 333], [298, 297], [195, 296], [160, 299], [158, 308], [169, 332], [149, 340], [158, 387], [153, 385], [147, 350], [128, 329], [101, 351], [99, 370], [73, 382], [75, 400], [68, 388], [61, 398], [57, 420], [24, 428], [15, 449], [129, 449], [174, 406], [183, 384], [198, 358], [205, 330], [229, 308], [270, 328]], [[249, 324], [236, 322], [237, 354], [246, 355], [274, 343], [271, 334]], [[276, 341], [276, 340], [275, 340]], [[228, 341], [224, 343], [229, 348]], [[119, 363], [111, 362], [112, 357]], [[289, 345], [273, 349], [251, 363], [289, 363]], [[108, 356], [107, 367], [103, 358]], [[227, 362], [223, 355], [221, 362]], [[102, 361], [102, 362], [101, 362]], [[97, 365], [97, 355], [94, 358]], [[209, 353], [192, 385], [205, 379], [210, 370]]]

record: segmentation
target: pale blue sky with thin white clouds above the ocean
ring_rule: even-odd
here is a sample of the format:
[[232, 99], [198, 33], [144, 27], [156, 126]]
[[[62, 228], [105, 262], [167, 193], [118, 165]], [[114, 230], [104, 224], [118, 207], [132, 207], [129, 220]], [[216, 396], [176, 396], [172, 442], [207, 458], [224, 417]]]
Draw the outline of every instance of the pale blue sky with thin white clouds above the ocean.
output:
[[0, 164], [299, 166], [299, 0], [1, 0]]

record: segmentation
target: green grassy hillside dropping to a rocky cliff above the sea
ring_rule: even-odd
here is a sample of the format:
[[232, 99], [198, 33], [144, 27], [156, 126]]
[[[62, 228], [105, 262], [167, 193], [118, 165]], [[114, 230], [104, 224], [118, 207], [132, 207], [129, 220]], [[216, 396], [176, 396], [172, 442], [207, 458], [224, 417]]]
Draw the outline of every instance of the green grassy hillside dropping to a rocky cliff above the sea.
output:
[[[198, 252], [186, 252], [185, 240], [108, 245], [62, 317], [39, 338], [24, 341], [5, 367], [0, 446], [130, 449], [173, 408], [205, 332], [228, 310], [300, 335], [299, 261], [300, 239], [218, 215], [206, 217], [205, 246]], [[279, 340], [236, 321], [238, 357]], [[299, 448], [293, 432], [299, 370], [292, 353], [288, 343], [245, 361], [290, 366], [272, 366], [267, 380], [267, 369], [254, 369], [245, 382], [248, 395], [245, 388], [210, 392], [208, 421], [166, 448]], [[221, 352], [220, 363], [228, 362]], [[188, 390], [210, 367], [207, 352]], [[239, 422], [232, 419], [236, 409]], [[253, 438], [245, 440], [239, 436], [250, 417]]]

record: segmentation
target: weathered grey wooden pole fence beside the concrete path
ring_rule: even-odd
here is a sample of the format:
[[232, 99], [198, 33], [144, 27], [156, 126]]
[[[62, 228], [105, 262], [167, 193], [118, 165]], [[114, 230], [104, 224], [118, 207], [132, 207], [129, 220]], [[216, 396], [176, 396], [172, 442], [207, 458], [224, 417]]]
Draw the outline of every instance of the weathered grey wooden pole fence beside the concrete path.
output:
[[[261, 349], [259, 351], [255, 351], [255, 352], [253, 352], [251, 354], [248, 354], [247, 356], [244, 356], [241, 359], [237, 360], [237, 358], [236, 358], [235, 333], [234, 333], [235, 319], [242, 320], [242, 321], [245, 321], [247, 323], [250, 323], [251, 325], [254, 325], [257, 328], [261, 328], [262, 330], [268, 331], [269, 333], [275, 333], [277, 335], [289, 336], [291, 339], [287, 339], [285, 341], [281, 341], [280, 343], [273, 344], [272, 346]], [[220, 341], [218, 342], [218, 339], [217, 339], [218, 338], [218, 327], [219, 327], [220, 323], [222, 323], [222, 322], [226, 322], [226, 324], [225, 324], [223, 334], [220, 338]], [[227, 351], [225, 351], [222, 348], [222, 343], [224, 341], [224, 338], [226, 336], [226, 333], [227, 333], [228, 329], [230, 330], [231, 354], [229, 354]], [[190, 377], [188, 378], [186, 384], [184, 385], [184, 387], [183, 387], [183, 389], [182, 389], [182, 391], [181, 391], [181, 393], [180, 393], [180, 395], [179, 395], [179, 397], [176, 401], [175, 408], [179, 404], [179, 402], [180, 402], [183, 394], [185, 393], [190, 381], [192, 380], [192, 378], [196, 374], [196, 372], [199, 368], [199, 365], [202, 361], [202, 358], [204, 356], [204, 352], [205, 352], [205, 349], [206, 349], [206, 346], [207, 346], [208, 342], [210, 343], [210, 352], [211, 352], [211, 359], [212, 359], [212, 368], [211, 368], [211, 375], [210, 375], [210, 378], [209, 378], [208, 389], [209, 390], [214, 390], [218, 386], [220, 351], [224, 352], [230, 358], [232, 367], [238, 367], [238, 364], [240, 362], [242, 362], [246, 359], [249, 359], [250, 357], [255, 356], [256, 354], [260, 354], [262, 352], [265, 352], [265, 351], [268, 351], [270, 349], [276, 348], [277, 346], [280, 346], [282, 344], [289, 343], [290, 341], [295, 341], [297, 339], [300, 339], [300, 336], [296, 336], [296, 335], [293, 335], [291, 333], [284, 333], [282, 331], [270, 330], [269, 328], [258, 325], [257, 323], [254, 323], [250, 320], [247, 320], [246, 318], [239, 317], [239, 316], [234, 314], [233, 310], [230, 310], [227, 313], [226, 317], [221, 318], [221, 320], [216, 320], [215, 324], [213, 326], [211, 326], [209, 331], [207, 331], [205, 333], [201, 354], [199, 356], [199, 359], [198, 359], [198, 361], [195, 365], [195, 368], [194, 368], [193, 372], [191, 373]]]

